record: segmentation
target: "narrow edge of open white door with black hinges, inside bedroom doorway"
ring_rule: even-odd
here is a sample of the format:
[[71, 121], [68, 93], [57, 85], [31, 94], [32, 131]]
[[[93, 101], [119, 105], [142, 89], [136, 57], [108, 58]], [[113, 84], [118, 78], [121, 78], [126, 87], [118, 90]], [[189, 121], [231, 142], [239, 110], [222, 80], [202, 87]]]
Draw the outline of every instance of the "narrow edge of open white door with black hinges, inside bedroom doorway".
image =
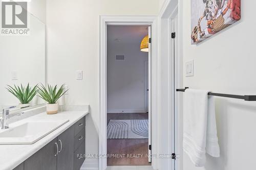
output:
[[152, 124], [152, 115], [151, 115], [151, 27], [148, 27], [148, 162], [151, 162], [152, 154], [152, 134], [151, 134], [151, 124]]

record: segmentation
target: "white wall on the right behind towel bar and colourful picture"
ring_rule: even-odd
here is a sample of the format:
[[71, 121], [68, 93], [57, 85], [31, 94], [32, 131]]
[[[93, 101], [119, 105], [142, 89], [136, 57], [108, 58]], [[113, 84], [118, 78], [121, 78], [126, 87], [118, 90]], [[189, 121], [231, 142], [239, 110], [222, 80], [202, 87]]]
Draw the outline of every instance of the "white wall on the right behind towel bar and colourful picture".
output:
[[[195, 60], [195, 76], [184, 86], [230, 94], [256, 94], [255, 39], [252, 28], [255, 1], [242, 2], [242, 19], [198, 45], [190, 44], [190, 1], [180, 1], [184, 63]], [[185, 67], [184, 67], [185, 68]], [[184, 71], [185, 72], [185, 71]], [[205, 167], [195, 167], [184, 154], [184, 170], [255, 169], [256, 103], [216, 98], [220, 158], [207, 156]]]

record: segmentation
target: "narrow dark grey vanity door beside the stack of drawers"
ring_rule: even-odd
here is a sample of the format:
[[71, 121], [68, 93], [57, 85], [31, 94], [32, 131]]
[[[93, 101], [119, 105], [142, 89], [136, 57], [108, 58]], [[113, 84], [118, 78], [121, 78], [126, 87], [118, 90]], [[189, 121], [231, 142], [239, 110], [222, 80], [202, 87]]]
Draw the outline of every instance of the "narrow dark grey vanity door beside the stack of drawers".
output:
[[58, 170], [71, 170], [74, 167], [74, 127], [70, 127], [57, 137], [59, 153], [57, 156]]

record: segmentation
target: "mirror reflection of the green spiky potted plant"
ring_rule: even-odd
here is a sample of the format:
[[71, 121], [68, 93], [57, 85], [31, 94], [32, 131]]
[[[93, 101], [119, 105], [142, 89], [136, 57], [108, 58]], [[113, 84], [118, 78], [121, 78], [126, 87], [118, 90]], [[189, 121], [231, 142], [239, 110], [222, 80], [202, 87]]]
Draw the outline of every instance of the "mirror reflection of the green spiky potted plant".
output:
[[14, 85], [14, 87], [7, 85], [6, 88], [10, 93], [12, 93], [20, 102], [19, 108], [25, 108], [30, 106], [30, 101], [34, 98], [34, 96], [37, 93], [37, 85], [35, 85], [33, 88], [29, 86], [29, 83], [27, 87], [20, 84], [20, 86]]

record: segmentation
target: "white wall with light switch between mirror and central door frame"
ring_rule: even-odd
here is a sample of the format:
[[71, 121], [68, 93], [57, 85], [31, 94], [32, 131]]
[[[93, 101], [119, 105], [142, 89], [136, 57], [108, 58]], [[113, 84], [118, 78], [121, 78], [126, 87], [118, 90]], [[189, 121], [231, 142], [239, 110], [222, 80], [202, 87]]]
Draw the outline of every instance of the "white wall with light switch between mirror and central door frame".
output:
[[[157, 0], [47, 1], [48, 80], [66, 83], [65, 104], [90, 104], [87, 153], [98, 152], [99, 15], [157, 15]], [[83, 80], [76, 81], [76, 70]]]

